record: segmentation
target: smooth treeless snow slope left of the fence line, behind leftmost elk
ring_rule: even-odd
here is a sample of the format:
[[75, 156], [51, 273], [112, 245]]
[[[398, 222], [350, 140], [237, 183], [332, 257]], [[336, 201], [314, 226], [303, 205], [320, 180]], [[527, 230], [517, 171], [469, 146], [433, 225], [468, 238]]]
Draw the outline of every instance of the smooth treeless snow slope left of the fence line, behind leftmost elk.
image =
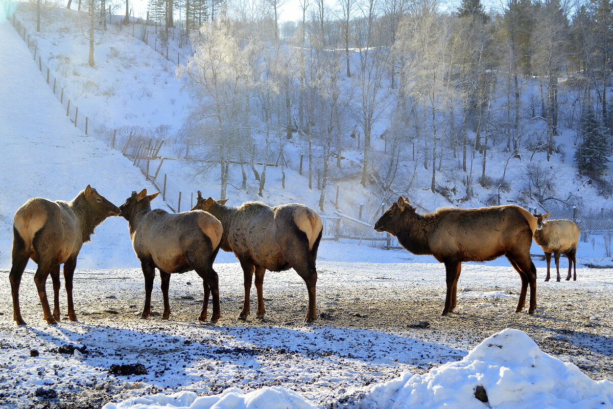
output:
[[[91, 184], [120, 205], [132, 190], [154, 187], [120, 152], [86, 137], [66, 118], [28, 49], [4, 18], [0, 61], [0, 266], [9, 268], [13, 214], [29, 198], [71, 200]], [[77, 268], [139, 266], [126, 220], [107, 219], [95, 233], [83, 246]], [[33, 263], [29, 266], [34, 268]]]

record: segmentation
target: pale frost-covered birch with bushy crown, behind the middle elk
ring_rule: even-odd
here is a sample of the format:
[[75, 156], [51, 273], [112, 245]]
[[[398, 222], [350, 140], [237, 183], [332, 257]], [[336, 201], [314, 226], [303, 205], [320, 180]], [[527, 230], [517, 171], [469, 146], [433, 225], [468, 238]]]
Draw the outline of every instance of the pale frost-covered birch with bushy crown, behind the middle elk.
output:
[[194, 137], [204, 138], [200, 141], [202, 160], [219, 167], [221, 198], [225, 198], [230, 162], [238, 158], [237, 138], [245, 126], [245, 104], [259, 86], [254, 70], [257, 47], [236, 37], [228, 24], [217, 22], [204, 24], [192, 36], [192, 47], [194, 55], [186, 66], [178, 67], [178, 75], [191, 80], [189, 89], [199, 101], [185, 128]]

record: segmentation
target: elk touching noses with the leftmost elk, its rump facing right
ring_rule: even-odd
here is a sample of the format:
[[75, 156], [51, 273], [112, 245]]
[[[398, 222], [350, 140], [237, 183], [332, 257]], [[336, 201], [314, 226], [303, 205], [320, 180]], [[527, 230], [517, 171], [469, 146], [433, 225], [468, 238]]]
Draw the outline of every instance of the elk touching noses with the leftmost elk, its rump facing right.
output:
[[211, 322], [221, 318], [219, 308], [219, 277], [213, 270], [213, 261], [219, 250], [223, 228], [219, 220], [204, 211], [189, 211], [170, 214], [162, 209], [151, 210], [151, 200], [160, 192], [147, 195], [147, 189], [132, 192], [126, 203], [120, 206], [121, 216], [128, 220], [132, 246], [145, 276], [145, 307], [141, 318], [151, 312], [151, 290], [155, 269], [162, 280], [164, 312], [162, 318], [170, 317], [168, 287], [170, 274], [196, 270], [202, 277], [204, 301], [198, 319], [207, 320], [208, 296], [213, 293], [213, 316]]

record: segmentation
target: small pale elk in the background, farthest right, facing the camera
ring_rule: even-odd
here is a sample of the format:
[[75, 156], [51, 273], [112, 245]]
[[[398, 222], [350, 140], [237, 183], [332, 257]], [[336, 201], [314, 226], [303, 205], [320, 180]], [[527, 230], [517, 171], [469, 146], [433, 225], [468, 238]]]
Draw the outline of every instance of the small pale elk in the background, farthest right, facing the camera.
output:
[[534, 239], [536, 244], [541, 246], [545, 252], [547, 260], [547, 277], [545, 281], [549, 281], [549, 265], [551, 263], [551, 253], [554, 253], [555, 269], [558, 272], [560, 281], [560, 254], [568, 257], [568, 276], [566, 281], [571, 279], [571, 268], [574, 268], [574, 278], [577, 280], [577, 244], [579, 244], [579, 226], [572, 220], [547, 220], [551, 213], [540, 214], [535, 213], [536, 231]]

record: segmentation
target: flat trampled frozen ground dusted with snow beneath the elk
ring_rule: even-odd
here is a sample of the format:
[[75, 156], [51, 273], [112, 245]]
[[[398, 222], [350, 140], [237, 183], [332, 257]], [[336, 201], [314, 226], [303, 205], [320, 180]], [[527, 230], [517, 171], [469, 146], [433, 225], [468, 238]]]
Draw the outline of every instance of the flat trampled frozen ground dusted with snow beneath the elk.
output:
[[[326, 261], [327, 255], [343, 250], [353, 255], [354, 262]], [[493, 388], [495, 376], [500, 376], [503, 386], [493, 389], [490, 399], [528, 406], [528, 403], [538, 403], [539, 391], [545, 390], [556, 399], [578, 402], [579, 392], [571, 393], [566, 386], [558, 388], [558, 384], [562, 378], [566, 382], [563, 385], [567, 385], [577, 377], [585, 385], [593, 385], [580, 372], [594, 380], [613, 380], [610, 270], [579, 269], [577, 282], [543, 283], [544, 271], [539, 269], [539, 310], [530, 316], [514, 313], [519, 276], [510, 266], [466, 265], [460, 279], [462, 292], [457, 312], [440, 317], [444, 302], [442, 265], [366, 262], [367, 257], [383, 260], [388, 252], [371, 250], [364, 254], [360, 250], [324, 243], [318, 267], [320, 315], [316, 324], [309, 326], [302, 324], [307, 304], [305, 286], [292, 270], [267, 272], [264, 282], [267, 318], [243, 323], [236, 318], [243, 296], [240, 266], [217, 264], [223, 314], [218, 325], [197, 321], [202, 287], [196, 274], [173, 275], [170, 320], [161, 320], [158, 316], [141, 320], [137, 314], [143, 302], [142, 273], [139, 269], [106, 269], [77, 271], [75, 309], [79, 321], [63, 320], [58, 325], [47, 326], [42, 320], [32, 276], [25, 274], [21, 302], [28, 326], [13, 324], [10, 290], [6, 285], [0, 288], [0, 305], [5, 306], [0, 315], [1, 399], [8, 408], [100, 407], [107, 402], [162, 392], [190, 391], [205, 396], [232, 387], [243, 392], [262, 392], [267, 386], [279, 386], [284, 388], [283, 399], [289, 393], [287, 389], [297, 392], [315, 407], [330, 407], [330, 404], [375, 407], [365, 403], [370, 401], [363, 394], [383, 393], [383, 386], [376, 389], [378, 392], [372, 392], [375, 395], [368, 391], [372, 385], [408, 371], [422, 376], [408, 383], [409, 386], [417, 381], [428, 383], [425, 381], [428, 377], [438, 376], [446, 388], [452, 387], [452, 381], [457, 383], [454, 393], [464, 395], [478, 380]], [[379, 252], [378, 257], [375, 252]], [[0, 270], [0, 279], [4, 282], [7, 273]], [[153, 293], [156, 312], [161, 311], [158, 283]], [[63, 293], [60, 300], [65, 312]], [[430, 326], [409, 328], [415, 321], [428, 321]], [[524, 350], [522, 345], [528, 341], [520, 339], [519, 347], [505, 349], [510, 351], [506, 363], [495, 358], [490, 362], [489, 355], [481, 359], [486, 367], [491, 364], [499, 366], [499, 370], [482, 372], [482, 364], [477, 367], [462, 364], [463, 369], [456, 369], [454, 377], [449, 372], [443, 378], [436, 373], [425, 374], [433, 367], [451, 370], [441, 365], [460, 361], [483, 339], [505, 328], [525, 331], [541, 350], [573, 364], [552, 366], [555, 361], [543, 358], [538, 371], [526, 373], [525, 351], [529, 350], [530, 356], [541, 356], [541, 353], [536, 345]], [[58, 353], [56, 348], [66, 344], [86, 349], [82, 356]], [[39, 356], [32, 357], [32, 350], [38, 351]], [[148, 373], [110, 375], [113, 364], [142, 364]], [[562, 373], [560, 368], [572, 373]], [[471, 375], [472, 369], [477, 372]], [[558, 378], [554, 376], [556, 372], [560, 372]], [[402, 380], [395, 381], [395, 389], [411, 377], [402, 376]], [[514, 394], [508, 390], [509, 379], [517, 382]], [[530, 387], [530, 394], [522, 386], [526, 382], [536, 385]], [[53, 390], [57, 395], [47, 400], [36, 397], [38, 388]], [[390, 391], [394, 388], [389, 386]], [[566, 392], [560, 392], [560, 388]], [[612, 399], [610, 383], [590, 388], [609, 396], [609, 401]], [[426, 389], [420, 394], [432, 392]], [[520, 389], [525, 392], [520, 393]], [[379, 398], [375, 400], [383, 402]], [[609, 401], [604, 401], [605, 405], [574, 407], [611, 407]], [[449, 402], [455, 402], [452, 408], [466, 407], [460, 404], [463, 400]], [[235, 407], [242, 406], [237, 403]], [[407, 407], [423, 406], [416, 403]]]

